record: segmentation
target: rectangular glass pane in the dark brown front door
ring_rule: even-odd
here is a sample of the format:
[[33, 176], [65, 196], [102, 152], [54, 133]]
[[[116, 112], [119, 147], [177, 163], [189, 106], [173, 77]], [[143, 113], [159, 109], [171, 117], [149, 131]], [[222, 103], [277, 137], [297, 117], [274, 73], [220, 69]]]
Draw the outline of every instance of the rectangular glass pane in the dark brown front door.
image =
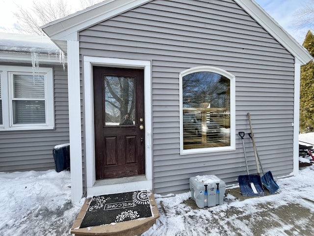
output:
[[105, 76], [105, 125], [135, 124], [134, 77]]

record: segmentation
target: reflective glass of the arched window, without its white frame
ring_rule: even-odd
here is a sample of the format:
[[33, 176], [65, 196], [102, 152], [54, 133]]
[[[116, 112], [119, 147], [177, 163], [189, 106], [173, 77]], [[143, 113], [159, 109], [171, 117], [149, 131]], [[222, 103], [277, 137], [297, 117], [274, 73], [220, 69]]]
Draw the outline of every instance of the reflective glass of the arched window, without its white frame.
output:
[[230, 146], [230, 80], [201, 71], [183, 76], [183, 149]]

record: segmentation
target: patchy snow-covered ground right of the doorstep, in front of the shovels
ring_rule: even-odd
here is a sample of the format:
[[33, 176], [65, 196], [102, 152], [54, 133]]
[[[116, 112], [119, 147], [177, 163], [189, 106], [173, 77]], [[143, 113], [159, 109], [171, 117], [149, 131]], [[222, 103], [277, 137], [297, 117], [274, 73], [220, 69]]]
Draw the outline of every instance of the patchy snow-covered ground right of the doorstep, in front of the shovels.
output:
[[143, 236], [313, 236], [313, 177], [306, 167], [279, 179], [279, 193], [263, 197], [240, 200], [227, 189], [223, 205], [202, 209], [189, 193], [157, 196], [159, 222]]

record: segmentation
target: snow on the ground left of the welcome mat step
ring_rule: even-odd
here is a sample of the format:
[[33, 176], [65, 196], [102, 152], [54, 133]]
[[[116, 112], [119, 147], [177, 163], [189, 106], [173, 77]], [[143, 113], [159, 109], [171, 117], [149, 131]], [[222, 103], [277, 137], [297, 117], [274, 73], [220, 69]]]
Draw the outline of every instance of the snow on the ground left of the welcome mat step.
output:
[[0, 235], [66, 236], [80, 210], [70, 172], [0, 173]]

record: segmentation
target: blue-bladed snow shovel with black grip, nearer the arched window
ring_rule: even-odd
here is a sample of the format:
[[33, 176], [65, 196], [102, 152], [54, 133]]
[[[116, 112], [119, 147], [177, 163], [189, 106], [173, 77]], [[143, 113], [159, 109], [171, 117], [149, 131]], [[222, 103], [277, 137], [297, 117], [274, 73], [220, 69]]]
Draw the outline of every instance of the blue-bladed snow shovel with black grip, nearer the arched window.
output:
[[244, 135], [245, 135], [244, 132], [239, 132], [239, 136], [241, 137], [243, 144], [243, 152], [247, 175], [238, 177], [240, 190], [243, 196], [264, 196], [265, 192], [262, 187], [261, 177], [258, 175], [249, 174], [249, 167], [247, 165], [246, 152], [244, 146]]

